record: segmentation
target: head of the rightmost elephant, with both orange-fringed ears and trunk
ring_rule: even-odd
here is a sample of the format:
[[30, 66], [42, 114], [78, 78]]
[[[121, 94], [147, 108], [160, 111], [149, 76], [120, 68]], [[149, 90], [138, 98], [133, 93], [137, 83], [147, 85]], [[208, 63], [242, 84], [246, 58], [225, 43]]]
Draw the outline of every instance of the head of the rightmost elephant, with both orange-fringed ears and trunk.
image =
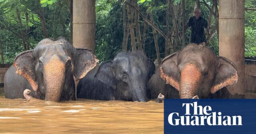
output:
[[237, 83], [236, 66], [224, 57], [217, 57], [202, 45], [188, 45], [182, 51], [162, 61], [161, 78], [179, 91], [180, 98], [198, 95], [207, 98], [210, 93]]

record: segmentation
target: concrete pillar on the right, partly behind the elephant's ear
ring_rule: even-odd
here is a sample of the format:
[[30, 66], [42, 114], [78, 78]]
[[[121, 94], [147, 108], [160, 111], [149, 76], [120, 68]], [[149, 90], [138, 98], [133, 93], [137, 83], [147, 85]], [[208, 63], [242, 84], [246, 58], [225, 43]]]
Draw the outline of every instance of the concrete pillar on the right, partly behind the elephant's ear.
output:
[[227, 88], [244, 95], [244, 0], [219, 0], [219, 7], [219, 54], [238, 70], [238, 83]]

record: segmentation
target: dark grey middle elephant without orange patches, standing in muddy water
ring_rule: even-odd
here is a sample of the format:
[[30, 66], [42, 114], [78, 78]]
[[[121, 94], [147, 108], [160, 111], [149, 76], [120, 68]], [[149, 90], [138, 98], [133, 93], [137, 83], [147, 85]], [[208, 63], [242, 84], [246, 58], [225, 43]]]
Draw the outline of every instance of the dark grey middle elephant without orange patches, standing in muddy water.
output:
[[153, 61], [142, 52], [119, 52], [79, 81], [77, 97], [146, 102], [146, 86], [154, 72]]

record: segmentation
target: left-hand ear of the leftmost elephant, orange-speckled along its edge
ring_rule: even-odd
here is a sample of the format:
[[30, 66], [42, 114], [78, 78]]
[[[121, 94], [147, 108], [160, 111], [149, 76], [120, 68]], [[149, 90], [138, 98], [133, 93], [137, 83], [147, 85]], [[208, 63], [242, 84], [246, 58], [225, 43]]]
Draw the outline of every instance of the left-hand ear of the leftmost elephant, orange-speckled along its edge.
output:
[[36, 73], [34, 71], [34, 58], [32, 52], [34, 50], [28, 50], [20, 53], [14, 59], [14, 67], [17, 69], [16, 73], [25, 77], [30, 83], [32, 89], [37, 91], [38, 83], [36, 81]]

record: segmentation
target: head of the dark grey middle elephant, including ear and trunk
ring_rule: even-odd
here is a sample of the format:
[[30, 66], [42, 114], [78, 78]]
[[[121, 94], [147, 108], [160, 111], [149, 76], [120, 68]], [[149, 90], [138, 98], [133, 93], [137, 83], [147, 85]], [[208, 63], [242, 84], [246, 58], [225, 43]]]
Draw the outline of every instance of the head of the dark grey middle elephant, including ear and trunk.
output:
[[95, 78], [112, 87], [118, 100], [146, 102], [146, 85], [154, 71], [154, 63], [143, 53], [120, 52], [100, 65]]

